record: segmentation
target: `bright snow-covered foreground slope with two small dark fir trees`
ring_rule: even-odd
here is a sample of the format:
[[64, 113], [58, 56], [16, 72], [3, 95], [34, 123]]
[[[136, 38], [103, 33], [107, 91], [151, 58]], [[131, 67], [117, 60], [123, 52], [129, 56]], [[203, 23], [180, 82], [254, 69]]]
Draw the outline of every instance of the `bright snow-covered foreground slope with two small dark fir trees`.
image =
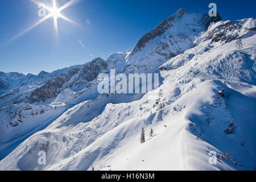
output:
[[[218, 90], [223, 89], [226, 96], [222, 98]], [[246, 90], [254, 98], [240, 93]], [[82, 121], [88, 112], [86, 103], [77, 105], [23, 142], [0, 162], [0, 167], [21, 170], [86, 170], [92, 166], [106, 170], [254, 168], [255, 86], [205, 81], [164, 109], [154, 109], [155, 101], [148, 100], [157, 91], [160, 90], [130, 104], [107, 105], [90, 122]], [[145, 107], [138, 112], [140, 104]], [[225, 134], [233, 120], [236, 130]], [[151, 127], [155, 131], [155, 136], [146, 137], [143, 144], [139, 143], [141, 127], [147, 133]], [[35, 160], [40, 150], [46, 151], [47, 165], [39, 166]], [[218, 156], [230, 154], [233, 159], [224, 156], [216, 165], [210, 165], [210, 151], [216, 151]]]

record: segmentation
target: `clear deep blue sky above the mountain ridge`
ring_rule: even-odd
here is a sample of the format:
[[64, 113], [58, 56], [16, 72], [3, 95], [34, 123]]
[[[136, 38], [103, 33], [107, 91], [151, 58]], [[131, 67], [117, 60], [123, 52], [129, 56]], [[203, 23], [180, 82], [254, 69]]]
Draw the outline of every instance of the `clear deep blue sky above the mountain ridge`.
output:
[[[57, 0], [57, 4], [61, 6], [68, 1]], [[0, 71], [38, 74], [42, 70], [51, 72], [84, 64], [95, 57], [106, 59], [111, 53], [135, 46], [144, 34], [180, 7], [203, 14], [208, 13], [210, 2], [217, 4], [224, 20], [255, 18], [254, 0], [81, 0], [62, 13], [89, 31], [58, 19], [57, 41], [53, 20], [48, 19], [10, 42], [40, 19], [39, 9], [30, 0], [1, 0]]]

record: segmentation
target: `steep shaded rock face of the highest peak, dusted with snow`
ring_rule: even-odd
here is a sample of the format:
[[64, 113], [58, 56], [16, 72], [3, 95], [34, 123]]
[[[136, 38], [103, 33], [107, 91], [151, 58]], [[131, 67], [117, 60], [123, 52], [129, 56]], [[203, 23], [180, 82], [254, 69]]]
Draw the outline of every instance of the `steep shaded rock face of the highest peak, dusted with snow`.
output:
[[219, 14], [210, 17], [208, 14], [193, 14], [180, 9], [144, 35], [126, 56], [126, 63], [158, 68], [172, 57], [192, 48], [199, 34], [210, 23], [220, 20]]

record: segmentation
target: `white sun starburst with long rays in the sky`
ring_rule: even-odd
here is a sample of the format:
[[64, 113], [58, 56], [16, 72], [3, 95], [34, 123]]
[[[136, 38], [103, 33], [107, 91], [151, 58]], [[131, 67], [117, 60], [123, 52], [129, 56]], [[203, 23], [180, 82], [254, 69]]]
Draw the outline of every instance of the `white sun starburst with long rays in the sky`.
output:
[[52, 0], [52, 7], [46, 6], [46, 5], [42, 4], [41, 2], [39, 2], [37, 0], [30, 0], [30, 1], [42, 6], [44, 9], [48, 10], [49, 14], [44, 16], [42, 19], [40, 19], [38, 22], [36, 22], [35, 24], [33, 24], [31, 27], [27, 28], [23, 32], [20, 32], [20, 34], [16, 35], [10, 41], [18, 38], [19, 36], [21, 36], [23, 34], [25, 34], [27, 31], [30, 31], [32, 28], [38, 26], [40, 23], [43, 23], [45, 20], [47, 20], [49, 18], [53, 18], [53, 24], [54, 24], [54, 29], [55, 29], [55, 32], [56, 32], [56, 36], [58, 36], [58, 26], [57, 26], [57, 19], [58, 18], [62, 18], [65, 21], [67, 21], [69, 23], [72, 23], [75, 26], [85, 28], [85, 27], [81, 26], [79, 23], [76, 23], [75, 21], [73, 21], [73, 20], [67, 18], [66, 16], [64, 16], [63, 14], [61, 14], [61, 11], [63, 11], [64, 9], [67, 9], [69, 6], [79, 2], [80, 0], [71, 0], [68, 3], [66, 3], [65, 5], [61, 6], [61, 7], [57, 7], [56, 0]]

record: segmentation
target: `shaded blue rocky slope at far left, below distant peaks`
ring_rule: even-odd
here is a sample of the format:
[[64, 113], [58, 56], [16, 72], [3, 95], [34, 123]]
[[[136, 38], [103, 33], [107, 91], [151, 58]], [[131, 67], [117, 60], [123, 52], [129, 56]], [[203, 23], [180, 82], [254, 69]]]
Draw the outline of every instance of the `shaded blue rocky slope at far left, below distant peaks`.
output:
[[[104, 60], [94, 59], [91, 63], [76, 65], [70, 67], [70, 70], [64, 69], [69, 70], [67, 73], [61, 73], [63, 70], [55, 71], [52, 74], [57, 76], [49, 78], [42, 85], [22, 86], [0, 96], [0, 159], [24, 139], [48, 126], [70, 106], [78, 104], [79, 101], [74, 100], [81, 93], [69, 89], [77, 90], [86, 86], [85, 91], [88, 91], [93, 85], [88, 82], [93, 81], [97, 73], [104, 71], [106, 67]], [[39, 75], [42, 74], [43, 72]], [[90, 93], [86, 92], [85, 100], [95, 97]]]

